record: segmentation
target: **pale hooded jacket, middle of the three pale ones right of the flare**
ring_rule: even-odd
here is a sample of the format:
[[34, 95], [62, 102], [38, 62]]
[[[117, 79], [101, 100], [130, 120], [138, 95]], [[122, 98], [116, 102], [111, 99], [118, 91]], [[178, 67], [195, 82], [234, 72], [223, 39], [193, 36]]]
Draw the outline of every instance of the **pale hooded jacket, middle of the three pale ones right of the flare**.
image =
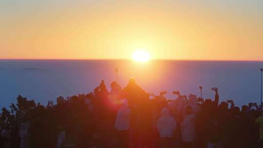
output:
[[173, 137], [173, 132], [176, 129], [176, 122], [169, 115], [168, 108], [162, 109], [162, 117], [158, 120], [157, 129], [161, 137]]

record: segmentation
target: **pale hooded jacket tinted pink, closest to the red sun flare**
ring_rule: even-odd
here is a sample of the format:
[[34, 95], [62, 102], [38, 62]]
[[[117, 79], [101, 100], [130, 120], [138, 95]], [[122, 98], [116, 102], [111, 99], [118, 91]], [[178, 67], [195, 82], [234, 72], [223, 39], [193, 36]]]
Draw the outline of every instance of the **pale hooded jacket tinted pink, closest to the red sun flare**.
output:
[[121, 107], [116, 115], [115, 129], [117, 130], [127, 130], [130, 129], [130, 115], [131, 110], [128, 108], [127, 100], [123, 100], [124, 107]]

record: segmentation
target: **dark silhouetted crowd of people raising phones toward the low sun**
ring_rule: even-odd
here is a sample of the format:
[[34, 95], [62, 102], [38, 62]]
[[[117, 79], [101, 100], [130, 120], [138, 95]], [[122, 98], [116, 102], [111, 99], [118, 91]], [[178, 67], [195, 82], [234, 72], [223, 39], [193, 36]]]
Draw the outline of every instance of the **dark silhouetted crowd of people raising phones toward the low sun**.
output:
[[[18, 96], [0, 114], [0, 148], [261, 148], [261, 106], [180, 95], [168, 100], [131, 78], [45, 107]], [[228, 107], [228, 105], [230, 107]]]

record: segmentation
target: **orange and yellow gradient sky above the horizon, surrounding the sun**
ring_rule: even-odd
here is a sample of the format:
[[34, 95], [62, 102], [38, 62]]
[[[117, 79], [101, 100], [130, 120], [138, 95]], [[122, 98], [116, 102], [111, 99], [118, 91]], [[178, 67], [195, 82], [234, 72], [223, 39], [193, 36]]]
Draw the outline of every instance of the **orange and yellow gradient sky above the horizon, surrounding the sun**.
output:
[[0, 58], [263, 60], [263, 0], [0, 0]]

